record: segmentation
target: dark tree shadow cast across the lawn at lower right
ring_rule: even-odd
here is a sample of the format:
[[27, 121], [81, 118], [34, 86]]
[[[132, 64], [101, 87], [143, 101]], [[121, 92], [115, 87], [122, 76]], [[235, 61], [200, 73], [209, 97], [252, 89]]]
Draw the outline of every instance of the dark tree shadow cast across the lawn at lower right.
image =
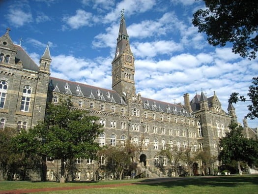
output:
[[237, 187], [246, 184], [258, 185], [258, 175], [248, 176], [204, 176], [204, 177], [174, 177], [145, 179], [135, 184], [149, 186], [188, 187], [188, 186], [209, 186], [209, 187]]

